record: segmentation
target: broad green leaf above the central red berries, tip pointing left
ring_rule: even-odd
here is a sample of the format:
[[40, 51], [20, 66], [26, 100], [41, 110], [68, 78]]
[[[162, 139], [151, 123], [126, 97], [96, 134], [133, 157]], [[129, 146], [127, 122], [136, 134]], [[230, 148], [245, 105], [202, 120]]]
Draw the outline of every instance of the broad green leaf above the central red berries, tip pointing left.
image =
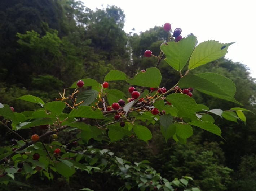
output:
[[161, 83], [161, 73], [155, 68], [147, 68], [145, 72], [137, 73], [135, 77], [126, 80], [127, 83], [141, 87], [157, 88]]

